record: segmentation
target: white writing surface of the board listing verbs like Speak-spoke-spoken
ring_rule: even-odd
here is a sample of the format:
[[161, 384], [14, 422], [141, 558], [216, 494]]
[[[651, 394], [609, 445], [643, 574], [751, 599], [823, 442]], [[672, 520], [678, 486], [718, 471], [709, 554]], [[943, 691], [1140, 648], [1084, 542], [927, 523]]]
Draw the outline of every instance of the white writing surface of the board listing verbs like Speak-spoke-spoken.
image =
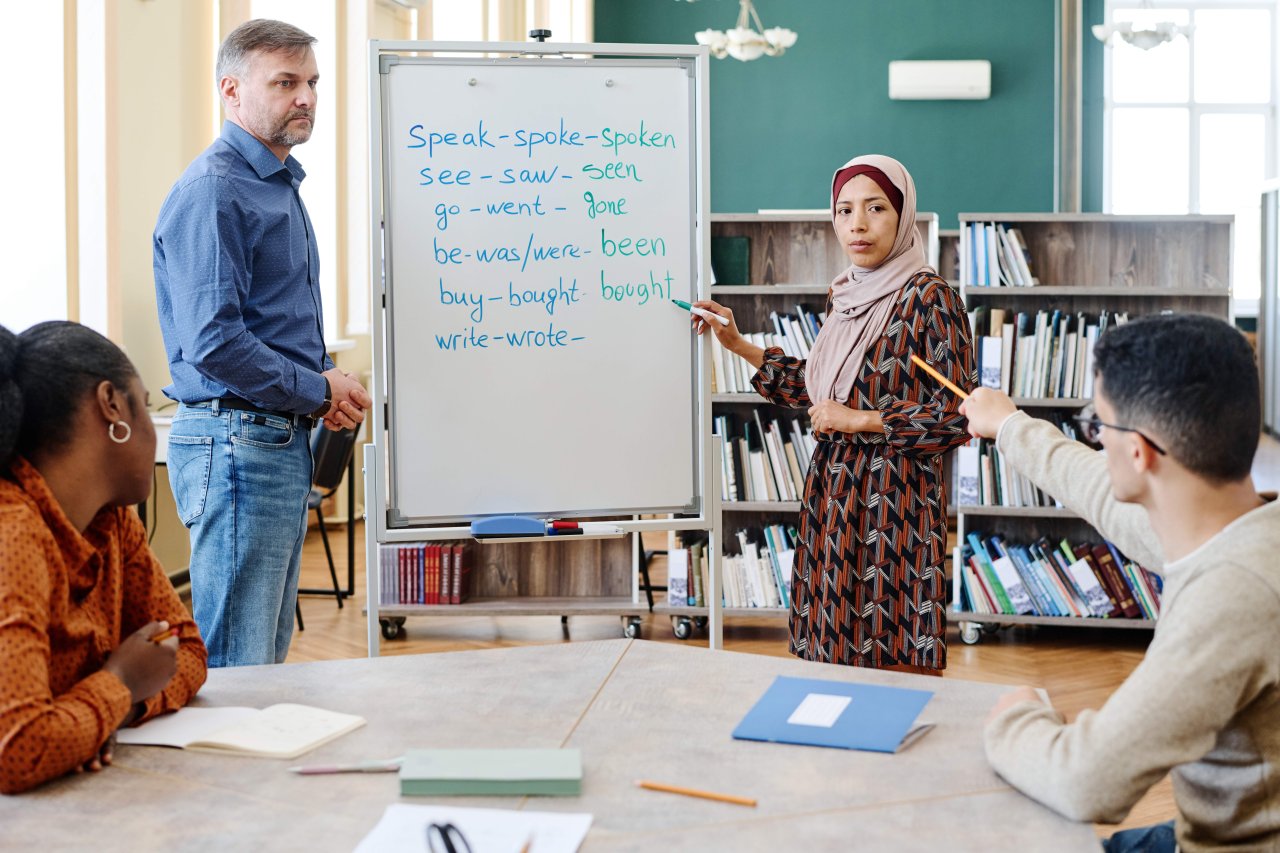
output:
[[390, 524], [699, 511], [695, 61], [380, 59]]

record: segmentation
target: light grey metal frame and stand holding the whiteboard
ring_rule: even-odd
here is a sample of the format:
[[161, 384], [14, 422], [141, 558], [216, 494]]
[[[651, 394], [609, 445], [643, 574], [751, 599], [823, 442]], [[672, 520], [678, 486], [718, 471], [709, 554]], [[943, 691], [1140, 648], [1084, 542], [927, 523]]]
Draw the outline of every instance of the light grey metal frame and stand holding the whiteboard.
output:
[[[371, 435], [372, 442], [365, 446], [364, 473], [365, 473], [365, 580], [366, 580], [366, 615], [367, 615], [367, 640], [369, 656], [376, 657], [380, 648], [380, 621], [383, 612], [397, 612], [401, 607], [383, 606], [379, 553], [380, 544], [410, 543], [425, 540], [470, 539], [471, 529], [467, 526], [398, 526], [388, 525], [388, 424], [387, 424], [387, 398], [384, 375], [387, 359], [385, 338], [385, 311], [387, 311], [387, 282], [384, 270], [387, 269], [387, 252], [384, 248], [383, 218], [383, 106], [381, 106], [381, 74], [380, 56], [397, 53], [429, 53], [433, 56], [440, 54], [471, 54], [484, 63], [483, 56], [495, 54], [509, 54], [512, 58], [543, 59], [554, 61], [556, 58], [570, 59], [573, 55], [605, 55], [611, 60], [618, 58], [632, 59], [687, 59], [692, 60], [694, 79], [694, 110], [692, 127], [696, 131], [692, 140], [698, 145], [698, 181], [696, 181], [696, 206], [695, 227], [698, 233], [698, 293], [700, 297], [709, 295], [710, 280], [710, 225], [709, 225], [709, 197], [710, 197], [710, 172], [708, 154], [709, 132], [709, 106], [708, 106], [708, 79], [709, 79], [709, 53], [703, 46], [671, 46], [671, 45], [621, 45], [621, 44], [553, 44], [544, 42], [417, 42], [417, 41], [372, 41], [370, 42], [370, 165], [371, 165], [371, 199], [370, 199], [370, 234], [374, 251], [370, 252], [370, 301], [372, 324], [372, 352], [374, 352], [374, 380], [370, 393], [374, 398], [371, 406]], [[489, 59], [488, 61], [493, 61]], [[581, 64], [581, 60], [576, 60]], [[389, 234], [387, 234], [389, 241]], [[700, 511], [696, 516], [678, 519], [632, 519], [630, 521], [617, 521], [622, 529], [621, 535], [643, 533], [649, 530], [705, 530], [708, 534], [708, 581], [712, 588], [709, 607], [709, 644], [710, 648], [722, 647], [721, 628], [721, 599], [719, 599], [719, 552], [723, 548], [721, 542], [721, 501], [719, 501], [719, 446], [710, 442], [710, 345], [705, 338], [699, 338], [696, 346], [696, 423], [698, 447], [696, 459], [701, 462], [701, 501]], [[695, 496], [698, 497], [698, 496]], [[536, 515], [536, 514], [534, 514]], [[604, 512], [602, 512], [604, 515]], [[566, 537], [568, 538], [568, 537]], [[572, 540], [582, 538], [603, 538], [579, 535]], [[530, 539], [521, 539], [530, 542]], [[534, 538], [531, 542], [544, 542]], [[481, 540], [480, 544], [484, 542]], [[635, 553], [632, 555], [635, 564]], [[632, 605], [639, 605], [639, 588], [635, 578], [637, 566], [632, 565]], [[513, 615], [536, 615], [548, 610], [539, 606], [536, 598], [521, 598], [518, 610], [512, 608]], [[559, 608], [554, 608], [558, 612]], [[644, 610], [644, 608], [641, 608]], [[467, 605], [440, 605], [416, 606], [411, 612], [439, 612], [452, 615], [468, 615], [479, 612]]]

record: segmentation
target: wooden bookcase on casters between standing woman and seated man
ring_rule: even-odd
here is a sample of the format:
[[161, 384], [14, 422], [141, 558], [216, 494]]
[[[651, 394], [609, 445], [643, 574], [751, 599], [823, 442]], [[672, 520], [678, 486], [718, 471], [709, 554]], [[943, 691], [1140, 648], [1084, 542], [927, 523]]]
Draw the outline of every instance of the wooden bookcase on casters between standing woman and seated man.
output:
[[[1038, 284], [993, 284], [991, 278], [995, 273], [983, 278], [984, 252], [979, 240], [986, 234], [982, 225], [989, 223], [1004, 224], [1006, 229], [1012, 228], [1021, 234], [1024, 256]], [[1112, 315], [1125, 313], [1130, 318], [1161, 311], [1193, 311], [1230, 319], [1231, 229], [1231, 216], [1212, 215], [960, 214], [956, 275], [968, 310], [986, 309], [989, 316], [992, 309], [1004, 309], [1006, 321], [1018, 313], [1034, 316], [1038, 311], [1062, 311], [1071, 316], [1084, 313], [1094, 319], [1102, 311]], [[988, 243], [986, 255], [989, 254]], [[1016, 373], [1018, 368], [1012, 370]], [[1078, 394], [1079, 389], [1075, 391]], [[1033, 416], [1061, 423], [1089, 402], [1085, 396], [1076, 394], [1015, 396], [1014, 401]], [[1010, 543], [1036, 542], [1041, 537], [1052, 543], [1064, 538], [1073, 543], [1100, 540], [1098, 533], [1083, 519], [1061, 507], [975, 506], [956, 501], [955, 508], [957, 542], [961, 544], [970, 532], [998, 535]], [[959, 584], [963, 575], [960, 560], [957, 547], [952, 557], [952, 584]], [[954, 590], [948, 616], [959, 622], [965, 643], [977, 643], [984, 633], [998, 630], [1002, 625], [1128, 629], [1155, 625], [1155, 620], [1149, 619], [960, 611], [959, 588], [954, 587]]]

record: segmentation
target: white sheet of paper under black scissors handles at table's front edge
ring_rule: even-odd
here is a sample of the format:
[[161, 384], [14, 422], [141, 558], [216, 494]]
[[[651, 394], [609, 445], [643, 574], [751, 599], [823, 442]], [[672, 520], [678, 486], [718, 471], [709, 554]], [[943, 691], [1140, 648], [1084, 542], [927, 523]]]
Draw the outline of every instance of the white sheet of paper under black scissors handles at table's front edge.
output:
[[591, 816], [392, 803], [356, 853], [421, 853], [426, 849], [428, 824], [457, 826], [471, 853], [518, 853], [526, 843], [530, 853], [575, 853], [591, 829]]

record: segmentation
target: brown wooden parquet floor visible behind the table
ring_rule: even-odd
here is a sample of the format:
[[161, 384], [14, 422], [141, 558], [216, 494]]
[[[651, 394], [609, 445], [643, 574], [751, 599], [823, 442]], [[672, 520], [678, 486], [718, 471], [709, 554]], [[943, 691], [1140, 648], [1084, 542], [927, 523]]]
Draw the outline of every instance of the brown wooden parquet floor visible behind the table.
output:
[[[1263, 438], [1254, 466], [1260, 491], [1280, 489], [1280, 442]], [[356, 529], [356, 564], [364, 560], [362, 525]], [[346, 532], [333, 533], [339, 576], [346, 579]], [[662, 547], [658, 544], [657, 547]], [[664, 566], [655, 566], [654, 583], [662, 583]], [[302, 599], [306, 630], [296, 633], [289, 661], [317, 661], [362, 657], [366, 653], [364, 571], [356, 574], [356, 599], [338, 610], [332, 598]], [[326, 587], [328, 567], [320, 537], [312, 532], [302, 558], [302, 585]], [[416, 619], [406, 624], [402, 638], [383, 643], [383, 654], [419, 654], [461, 649], [500, 648], [538, 643], [563, 643], [570, 639], [612, 639], [621, 637], [621, 622], [612, 617], [572, 617], [566, 629], [553, 616], [453, 616]], [[643, 637], [680, 643], [666, 619], [648, 616]], [[951, 628], [947, 637], [950, 666], [947, 678], [1005, 684], [1030, 684], [1048, 690], [1053, 704], [1069, 720], [1085, 708], [1097, 708], [1129, 676], [1142, 660], [1151, 639], [1147, 631], [1103, 629], [1006, 629], [984, 637], [977, 646], [965, 646]], [[689, 643], [705, 644], [695, 635]], [[730, 651], [753, 654], [787, 656], [786, 628], [773, 620], [735, 620], [724, 629]], [[1172, 790], [1166, 777], [1130, 812], [1121, 827], [1146, 826], [1174, 817]], [[1114, 826], [1098, 826], [1098, 834]]]

